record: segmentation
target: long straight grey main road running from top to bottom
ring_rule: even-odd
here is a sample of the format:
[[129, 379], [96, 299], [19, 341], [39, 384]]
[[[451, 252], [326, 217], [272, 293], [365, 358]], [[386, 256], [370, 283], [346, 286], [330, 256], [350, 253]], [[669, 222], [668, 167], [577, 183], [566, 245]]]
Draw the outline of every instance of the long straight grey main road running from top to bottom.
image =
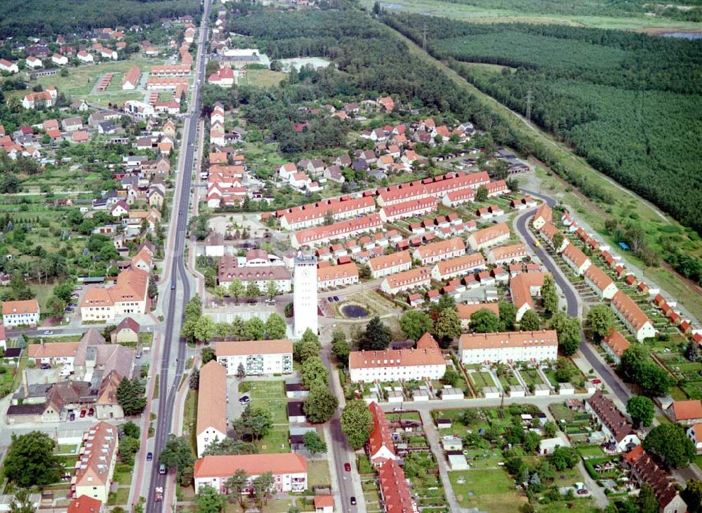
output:
[[[171, 219], [176, 221], [175, 244], [170, 257], [172, 260], [170, 281], [168, 288], [168, 309], [166, 311], [166, 333], [164, 336], [164, 346], [161, 352], [161, 366], [159, 368], [159, 382], [163, 393], [159, 399], [159, 408], [156, 420], [156, 433], [154, 439], [154, 460], [163, 450], [168, 437], [171, 434], [173, 422], [173, 406], [176, 401], [176, 393], [180, 380], [183, 376], [185, 366], [185, 351], [187, 345], [185, 339], [180, 338], [180, 323], [183, 317], [183, 308], [190, 298], [190, 277], [185, 268], [183, 254], [185, 250], [185, 234], [187, 230], [187, 211], [190, 202], [190, 183], [192, 181], [192, 165], [194, 159], [194, 142], [197, 136], [197, 120], [200, 112], [200, 84], [204, 81], [205, 69], [205, 48], [207, 41], [207, 22], [210, 12], [210, 1], [207, 0], [204, 6], [202, 22], [200, 27], [200, 37], [198, 43], [197, 66], [195, 68], [195, 78], [193, 82], [193, 94], [191, 100], [190, 114], [185, 116], [185, 127], [183, 131], [183, 141], [181, 151], [185, 152], [183, 169], [180, 169], [181, 176], [180, 195], [177, 206], [174, 205]], [[177, 207], [177, 208], [176, 208]], [[176, 328], [177, 331], [176, 331]], [[175, 338], [175, 340], [174, 340]], [[174, 344], [175, 342], [175, 344]], [[175, 361], [173, 361], [175, 359]], [[159, 361], [154, 355], [155, 362]], [[175, 375], [169, 380], [171, 366], [175, 367]], [[152, 465], [150, 488], [146, 502], [147, 513], [160, 513], [164, 509], [164, 502], [154, 501], [154, 489], [164, 488], [164, 498], [166, 495], [167, 476], [159, 474], [159, 465]], [[167, 509], [170, 509], [168, 505]]]

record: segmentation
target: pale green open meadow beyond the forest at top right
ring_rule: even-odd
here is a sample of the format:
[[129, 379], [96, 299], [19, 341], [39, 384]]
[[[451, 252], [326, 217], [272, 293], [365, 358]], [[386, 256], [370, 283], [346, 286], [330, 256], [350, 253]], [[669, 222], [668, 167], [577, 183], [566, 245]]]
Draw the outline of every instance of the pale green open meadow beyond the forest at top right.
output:
[[[362, 0], [361, 4], [373, 8], [374, 0]], [[470, 6], [454, 4], [442, 0], [391, 0], [381, 2], [383, 8], [403, 13], [419, 13], [432, 16], [445, 16], [453, 20], [464, 20], [477, 23], [489, 22], [529, 22], [529, 23], [559, 23], [579, 27], [595, 27], [600, 29], [642, 30], [649, 28], [660, 29], [701, 29], [699, 23], [684, 22], [661, 18], [660, 16], [607, 16], [607, 15], [577, 15], [558, 13], [525, 13], [515, 8], [488, 8], [485, 6]]]

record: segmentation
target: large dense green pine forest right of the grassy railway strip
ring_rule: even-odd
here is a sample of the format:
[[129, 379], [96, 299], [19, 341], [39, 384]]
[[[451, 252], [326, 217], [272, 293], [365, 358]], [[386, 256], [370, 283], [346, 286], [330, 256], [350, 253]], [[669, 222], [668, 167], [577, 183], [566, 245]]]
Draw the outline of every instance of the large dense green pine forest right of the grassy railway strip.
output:
[[[702, 233], [702, 44], [559, 25], [385, 15], [437, 58]], [[501, 65], [503, 69], [468, 64]]]

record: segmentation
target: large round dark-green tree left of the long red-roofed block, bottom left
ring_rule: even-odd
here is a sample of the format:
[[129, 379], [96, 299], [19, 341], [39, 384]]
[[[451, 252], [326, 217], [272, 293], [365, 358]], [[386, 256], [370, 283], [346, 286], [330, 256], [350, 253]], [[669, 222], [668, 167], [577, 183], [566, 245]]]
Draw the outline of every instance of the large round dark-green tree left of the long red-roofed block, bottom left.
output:
[[46, 433], [32, 431], [20, 436], [13, 433], [3, 464], [5, 477], [20, 488], [58, 482], [63, 465], [53, 453], [55, 446]]

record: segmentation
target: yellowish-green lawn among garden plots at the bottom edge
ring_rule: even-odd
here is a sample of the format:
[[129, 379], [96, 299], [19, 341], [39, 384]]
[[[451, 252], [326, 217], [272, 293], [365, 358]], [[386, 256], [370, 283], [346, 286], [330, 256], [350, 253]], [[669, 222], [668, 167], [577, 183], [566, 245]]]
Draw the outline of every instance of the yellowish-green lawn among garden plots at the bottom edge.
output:
[[[463, 483], [459, 481], [463, 480]], [[449, 472], [453, 493], [461, 507], [488, 512], [515, 512], [527, 502], [519, 496], [514, 481], [503, 469]]]

